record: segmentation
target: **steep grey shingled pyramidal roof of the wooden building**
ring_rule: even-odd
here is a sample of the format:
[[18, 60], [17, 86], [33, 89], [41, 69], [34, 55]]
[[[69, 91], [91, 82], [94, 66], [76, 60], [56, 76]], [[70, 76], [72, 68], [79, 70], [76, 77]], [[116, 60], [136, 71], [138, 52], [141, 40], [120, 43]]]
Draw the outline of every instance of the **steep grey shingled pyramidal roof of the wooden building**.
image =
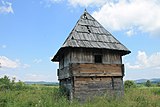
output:
[[64, 48], [97, 48], [121, 51], [122, 55], [130, 51], [108, 32], [86, 10], [81, 15], [68, 38], [58, 50], [52, 61], [58, 61], [59, 54]]

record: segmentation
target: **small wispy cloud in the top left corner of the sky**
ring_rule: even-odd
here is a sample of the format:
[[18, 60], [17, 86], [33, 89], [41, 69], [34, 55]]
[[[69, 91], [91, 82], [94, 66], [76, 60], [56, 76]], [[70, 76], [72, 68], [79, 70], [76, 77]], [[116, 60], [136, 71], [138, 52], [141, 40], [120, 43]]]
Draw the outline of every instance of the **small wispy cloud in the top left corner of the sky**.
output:
[[12, 8], [12, 3], [7, 1], [1, 1], [2, 4], [0, 4], [0, 14], [6, 14], [6, 13], [14, 13]]

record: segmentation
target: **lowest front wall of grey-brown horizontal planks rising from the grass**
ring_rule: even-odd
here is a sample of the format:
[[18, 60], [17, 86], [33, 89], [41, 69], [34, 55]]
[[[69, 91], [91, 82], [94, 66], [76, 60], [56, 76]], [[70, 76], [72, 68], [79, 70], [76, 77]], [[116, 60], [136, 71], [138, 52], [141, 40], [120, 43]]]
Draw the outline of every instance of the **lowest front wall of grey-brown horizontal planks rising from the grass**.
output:
[[104, 94], [123, 93], [123, 80], [121, 77], [76, 77], [74, 80], [74, 97], [80, 101], [85, 101], [86, 98], [93, 98]]

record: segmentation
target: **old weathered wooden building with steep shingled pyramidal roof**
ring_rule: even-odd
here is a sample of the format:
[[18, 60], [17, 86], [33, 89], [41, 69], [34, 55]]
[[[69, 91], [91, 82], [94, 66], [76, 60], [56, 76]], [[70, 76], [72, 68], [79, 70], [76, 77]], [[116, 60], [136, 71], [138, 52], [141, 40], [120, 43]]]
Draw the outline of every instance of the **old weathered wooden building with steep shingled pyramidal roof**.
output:
[[69, 99], [104, 93], [123, 94], [122, 56], [130, 51], [86, 10], [53, 57], [60, 88]]

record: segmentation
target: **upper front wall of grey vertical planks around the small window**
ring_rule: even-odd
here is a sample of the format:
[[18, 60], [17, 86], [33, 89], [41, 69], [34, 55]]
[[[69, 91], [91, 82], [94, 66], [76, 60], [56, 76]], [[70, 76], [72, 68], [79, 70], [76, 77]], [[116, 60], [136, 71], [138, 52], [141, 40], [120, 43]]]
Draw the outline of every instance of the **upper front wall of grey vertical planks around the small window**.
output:
[[102, 63], [104, 64], [122, 64], [121, 55], [109, 51], [73, 49], [71, 52], [70, 63], [95, 63], [94, 55], [102, 55]]

